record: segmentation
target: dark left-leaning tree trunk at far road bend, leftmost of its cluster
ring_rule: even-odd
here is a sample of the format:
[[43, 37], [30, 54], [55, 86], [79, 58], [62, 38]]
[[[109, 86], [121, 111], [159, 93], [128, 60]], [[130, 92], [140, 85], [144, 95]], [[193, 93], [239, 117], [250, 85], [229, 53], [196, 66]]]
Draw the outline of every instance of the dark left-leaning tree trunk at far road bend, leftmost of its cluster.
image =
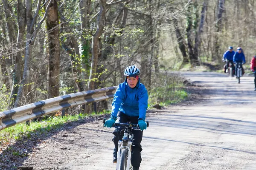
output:
[[181, 65], [181, 67], [182, 67], [183, 65], [189, 63], [189, 58], [186, 54], [185, 40], [183, 39], [183, 37], [180, 33], [180, 28], [178, 27], [178, 20], [176, 18], [174, 18], [173, 23], [174, 23], [175, 34], [176, 34], [177, 41], [178, 41], [178, 44], [179, 44], [180, 52], [183, 56], [183, 61], [182, 61], [182, 65]]

